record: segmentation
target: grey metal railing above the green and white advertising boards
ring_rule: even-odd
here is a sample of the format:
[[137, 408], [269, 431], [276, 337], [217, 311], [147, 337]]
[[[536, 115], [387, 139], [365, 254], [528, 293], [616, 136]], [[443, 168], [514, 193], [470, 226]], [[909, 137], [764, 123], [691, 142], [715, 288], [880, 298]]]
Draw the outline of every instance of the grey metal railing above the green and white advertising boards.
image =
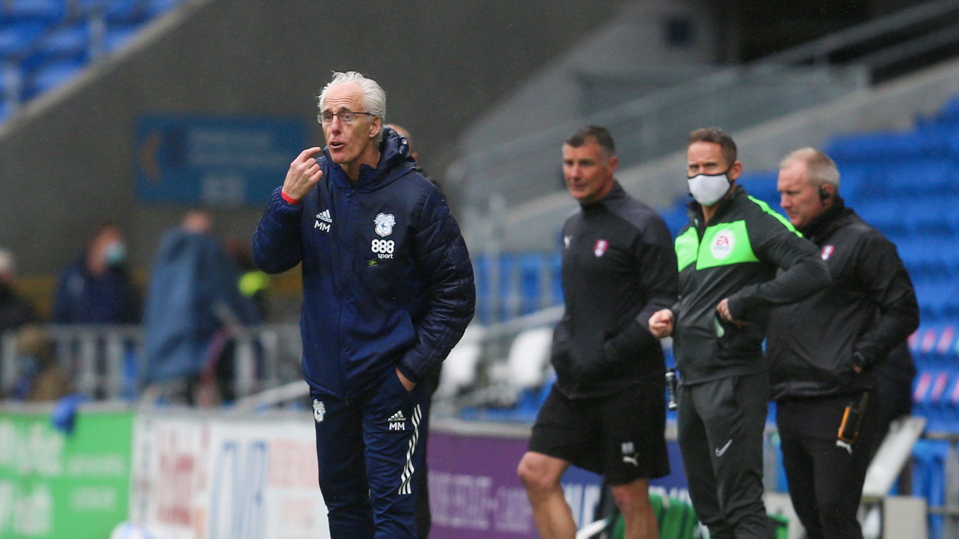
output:
[[[232, 385], [237, 397], [302, 379], [302, 353], [297, 324], [231, 328], [234, 342]], [[70, 380], [72, 391], [106, 400], [130, 399], [143, 368], [143, 328], [135, 325], [47, 326], [55, 361]], [[0, 338], [0, 395], [9, 395], [23, 358], [17, 354], [19, 334]]]

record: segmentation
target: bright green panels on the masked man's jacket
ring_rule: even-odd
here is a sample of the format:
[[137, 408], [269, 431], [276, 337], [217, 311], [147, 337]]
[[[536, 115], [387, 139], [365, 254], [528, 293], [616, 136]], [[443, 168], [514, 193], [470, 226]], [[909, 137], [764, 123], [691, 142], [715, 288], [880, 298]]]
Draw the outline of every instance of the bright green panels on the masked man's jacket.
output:
[[[772, 211], [769, 204], [760, 199], [752, 197], [749, 199], [760, 206], [762, 211], [783, 223], [790, 232], [799, 237], [803, 236], [792, 223]], [[696, 263], [696, 269], [707, 269], [743, 262], [759, 262], [760, 259], [756, 257], [753, 246], [749, 243], [746, 222], [740, 220], [707, 226], [703, 232], [702, 242], [699, 241], [696, 228], [690, 226], [686, 232], [676, 238], [676, 261], [679, 263], [679, 270], [682, 271], [693, 262]]]

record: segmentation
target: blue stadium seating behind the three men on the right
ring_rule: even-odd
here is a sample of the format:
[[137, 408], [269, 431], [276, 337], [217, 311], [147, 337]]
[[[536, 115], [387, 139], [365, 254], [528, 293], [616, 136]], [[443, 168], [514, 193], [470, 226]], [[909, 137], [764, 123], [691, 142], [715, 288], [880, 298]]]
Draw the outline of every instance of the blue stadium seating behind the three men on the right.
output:
[[[926, 418], [927, 432], [959, 434], [959, 96], [937, 114], [918, 118], [912, 129], [843, 134], [824, 150], [839, 167], [843, 197], [897, 245], [913, 279], [922, 311], [922, 325], [909, 340], [919, 373], [913, 413]], [[776, 177], [775, 171], [751, 172], [741, 183], [779, 208]], [[675, 235], [687, 223], [686, 200], [662, 215]], [[478, 316], [484, 324], [524, 316], [536, 306], [562, 304], [558, 250], [501, 253], [495, 278], [488, 270], [495, 264], [490, 258], [477, 260]], [[667, 363], [672, 363], [668, 349]], [[468, 408], [463, 416], [529, 421], [546, 394], [524, 387], [512, 407]], [[913, 452], [912, 492], [930, 506], [944, 504], [949, 443], [924, 439]], [[944, 526], [942, 515], [930, 515], [929, 537], [943, 537]]]

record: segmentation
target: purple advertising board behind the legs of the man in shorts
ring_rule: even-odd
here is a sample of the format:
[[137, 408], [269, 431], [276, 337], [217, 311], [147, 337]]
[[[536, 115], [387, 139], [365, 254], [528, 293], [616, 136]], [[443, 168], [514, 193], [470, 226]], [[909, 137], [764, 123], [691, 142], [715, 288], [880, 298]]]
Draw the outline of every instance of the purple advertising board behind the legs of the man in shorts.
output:
[[[516, 466], [526, 452], [528, 430], [508, 426], [509, 434], [495, 434], [486, 424], [469, 433], [468, 428], [444, 429], [434, 425], [428, 458], [433, 539], [535, 539], [536, 525], [526, 491], [516, 476]], [[688, 499], [686, 474], [679, 445], [668, 440], [672, 473], [652, 480], [651, 491]], [[602, 479], [571, 467], [561, 480], [577, 527], [593, 522]]]

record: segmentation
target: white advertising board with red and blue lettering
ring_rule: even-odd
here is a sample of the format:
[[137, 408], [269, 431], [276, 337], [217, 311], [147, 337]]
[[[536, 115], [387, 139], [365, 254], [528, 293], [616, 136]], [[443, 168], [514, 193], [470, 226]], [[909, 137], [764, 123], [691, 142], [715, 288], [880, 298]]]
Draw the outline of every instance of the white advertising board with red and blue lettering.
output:
[[130, 517], [156, 539], [327, 539], [313, 422], [144, 414]]

